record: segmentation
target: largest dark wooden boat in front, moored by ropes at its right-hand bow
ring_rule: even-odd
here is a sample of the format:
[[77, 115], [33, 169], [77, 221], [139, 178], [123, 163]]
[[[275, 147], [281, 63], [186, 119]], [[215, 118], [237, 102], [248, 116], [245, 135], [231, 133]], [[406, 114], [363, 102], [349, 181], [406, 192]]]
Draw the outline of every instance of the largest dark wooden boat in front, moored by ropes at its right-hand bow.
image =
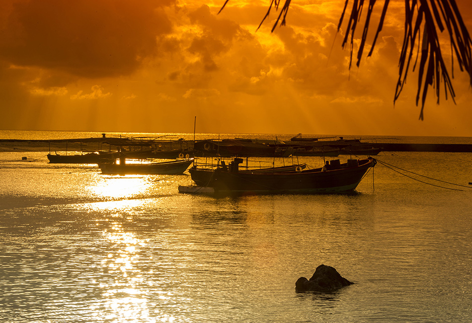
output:
[[337, 193], [353, 191], [376, 160], [339, 160], [326, 162], [315, 169], [296, 169], [282, 172], [239, 171], [241, 159], [235, 159], [228, 169], [189, 169], [197, 186], [212, 187], [216, 193]]

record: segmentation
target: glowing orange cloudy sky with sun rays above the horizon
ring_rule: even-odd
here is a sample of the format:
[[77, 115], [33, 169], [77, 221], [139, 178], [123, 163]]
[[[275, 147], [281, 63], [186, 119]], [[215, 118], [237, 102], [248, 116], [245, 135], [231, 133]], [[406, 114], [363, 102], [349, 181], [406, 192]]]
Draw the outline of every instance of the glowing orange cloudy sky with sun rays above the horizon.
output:
[[[471, 1], [456, 1], [472, 32]], [[0, 129], [192, 133], [196, 117], [198, 133], [472, 136], [457, 63], [456, 103], [442, 87], [438, 105], [430, 88], [419, 120], [409, 71], [393, 104], [404, 1], [351, 69], [344, 2], [293, 0], [271, 32], [275, 10], [257, 29], [268, 0], [230, 0], [219, 14], [224, 0], [1, 0]]]

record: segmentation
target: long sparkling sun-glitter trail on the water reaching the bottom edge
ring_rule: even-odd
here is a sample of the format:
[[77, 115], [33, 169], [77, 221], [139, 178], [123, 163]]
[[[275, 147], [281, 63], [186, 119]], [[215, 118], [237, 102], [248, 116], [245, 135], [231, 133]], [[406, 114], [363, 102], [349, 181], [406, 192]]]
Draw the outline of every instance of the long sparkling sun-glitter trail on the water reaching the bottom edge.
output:
[[174, 322], [175, 316], [155, 307], [157, 300], [171, 300], [172, 293], [153, 289], [156, 282], [149, 279], [153, 270], [143, 269], [146, 262], [140, 263], [139, 259], [147, 243], [138, 239], [135, 233], [125, 231], [121, 222], [124, 219], [123, 215], [114, 213], [104, 220], [107, 225], [103, 237], [107, 249], [99, 262], [104, 279], [94, 281], [101, 290], [103, 302], [100, 306], [90, 307], [93, 316], [96, 320], [116, 323]]

